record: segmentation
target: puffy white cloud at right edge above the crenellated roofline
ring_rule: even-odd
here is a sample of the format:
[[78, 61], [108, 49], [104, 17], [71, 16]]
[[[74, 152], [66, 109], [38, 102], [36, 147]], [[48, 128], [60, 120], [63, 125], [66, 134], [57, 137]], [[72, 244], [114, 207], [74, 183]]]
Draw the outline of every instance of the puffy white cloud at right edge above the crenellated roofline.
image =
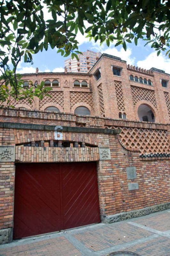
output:
[[158, 68], [169, 73], [170, 59], [166, 59], [162, 53], [157, 56], [157, 52], [152, 52], [144, 60], [139, 60], [137, 66], [146, 69]]

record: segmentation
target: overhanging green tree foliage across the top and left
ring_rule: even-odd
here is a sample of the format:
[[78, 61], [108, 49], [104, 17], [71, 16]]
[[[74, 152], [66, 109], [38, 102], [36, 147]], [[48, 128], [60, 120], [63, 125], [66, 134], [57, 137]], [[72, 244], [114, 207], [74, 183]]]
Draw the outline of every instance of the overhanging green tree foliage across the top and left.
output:
[[[49, 15], [47, 15], [48, 10]], [[61, 55], [77, 57], [77, 33], [91, 40], [122, 44], [146, 40], [170, 57], [170, 2], [166, 0], [1, 0], [0, 1], [0, 100], [43, 97], [43, 86], [21, 87], [17, 66], [22, 58], [32, 63], [33, 54], [57, 48]], [[10, 70], [9, 63], [13, 69]], [[36, 89], [36, 90], [35, 90]]]

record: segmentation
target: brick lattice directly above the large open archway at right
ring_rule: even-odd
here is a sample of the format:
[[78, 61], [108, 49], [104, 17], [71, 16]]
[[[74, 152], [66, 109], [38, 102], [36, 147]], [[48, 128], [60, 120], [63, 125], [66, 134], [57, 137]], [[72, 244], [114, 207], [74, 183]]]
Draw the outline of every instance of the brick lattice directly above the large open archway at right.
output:
[[136, 105], [136, 103], [140, 100], [147, 100], [151, 102], [155, 108], [157, 108], [155, 91], [137, 86], [131, 86], [131, 91], [134, 105]]

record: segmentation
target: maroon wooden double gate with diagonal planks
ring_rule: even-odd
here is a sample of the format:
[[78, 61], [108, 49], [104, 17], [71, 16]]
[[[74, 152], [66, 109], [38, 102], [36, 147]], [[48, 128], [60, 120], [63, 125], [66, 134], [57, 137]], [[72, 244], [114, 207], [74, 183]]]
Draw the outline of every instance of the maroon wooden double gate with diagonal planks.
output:
[[14, 239], [98, 222], [96, 163], [16, 164]]

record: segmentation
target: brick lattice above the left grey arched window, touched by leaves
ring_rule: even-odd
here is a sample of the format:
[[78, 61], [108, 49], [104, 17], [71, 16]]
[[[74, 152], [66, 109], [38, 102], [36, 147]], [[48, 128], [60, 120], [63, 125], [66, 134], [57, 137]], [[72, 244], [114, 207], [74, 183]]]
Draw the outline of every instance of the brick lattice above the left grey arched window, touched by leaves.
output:
[[43, 106], [46, 103], [57, 103], [62, 108], [64, 108], [64, 94], [63, 92], [48, 92], [52, 98], [45, 96], [43, 100], [40, 100], [40, 109], [43, 108]]

